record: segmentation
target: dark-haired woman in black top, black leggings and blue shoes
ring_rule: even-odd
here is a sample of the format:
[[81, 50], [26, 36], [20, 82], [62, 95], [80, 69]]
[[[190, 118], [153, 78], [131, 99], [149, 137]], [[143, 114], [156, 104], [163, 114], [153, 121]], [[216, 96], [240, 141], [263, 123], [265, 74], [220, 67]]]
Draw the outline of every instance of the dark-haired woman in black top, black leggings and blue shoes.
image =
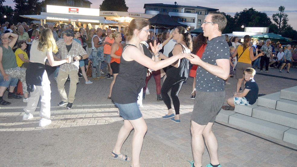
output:
[[[187, 32], [184, 27], [176, 27], [173, 39], [176, 40], [177, 44], [174, 46], [173, 50], [168, 54], [168, 57], [179, 53], [191, 53], [192, 50], [192, 40], [191, 35]], [[161, 96], [164, 103], [168, 108], [168, 114], [163, 116], [163, 119], [171, 118], [172, 121], [180, 123], [179, 119], [179, 98], [178, 94], [182, 88], [182, 83], [188, 78], [189, 74], [189, 60], [186, 58], [179, 59], [170, 66], [167, 67], [166, 75], [162, 88]], [[171, 100], [169, 98], [168, 92], [171, 89], [171, 98], [173, 101], [173, 106], [175, 110], [175, 115], [172, 112]]]

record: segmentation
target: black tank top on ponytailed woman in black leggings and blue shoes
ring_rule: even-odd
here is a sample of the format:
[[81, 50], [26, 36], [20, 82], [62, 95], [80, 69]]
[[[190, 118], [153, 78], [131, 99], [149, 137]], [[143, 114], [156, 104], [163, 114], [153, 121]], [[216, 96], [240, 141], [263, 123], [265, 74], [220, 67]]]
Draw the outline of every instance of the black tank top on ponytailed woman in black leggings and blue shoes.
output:
[[[190, 50], [186, 51], [186, 49], [181, 44], [179, 45], [182, 47], [182, 53], [191, 52]], [[171, 50], [171, 52], [168, 54], [168, 57], [173, 56], [172, 51], [173, 50]], [[180, 59], [178, 68], [169, 65], [166, 70], [166, 75], [177, 80], [187, 79], [189, 75], [189, 60], [186, 58]]]

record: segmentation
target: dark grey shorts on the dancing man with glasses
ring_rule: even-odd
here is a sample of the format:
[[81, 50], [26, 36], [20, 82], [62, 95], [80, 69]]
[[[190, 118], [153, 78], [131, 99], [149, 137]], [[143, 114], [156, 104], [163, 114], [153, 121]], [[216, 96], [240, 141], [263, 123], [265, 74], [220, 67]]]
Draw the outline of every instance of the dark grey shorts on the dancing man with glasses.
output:
[[194, 109], [191, 120], [199, 125], [207, 125], [215, 122], [221, 107], [225, 102], [225, 91], [223, 92], [199, 92], [196, 91]]

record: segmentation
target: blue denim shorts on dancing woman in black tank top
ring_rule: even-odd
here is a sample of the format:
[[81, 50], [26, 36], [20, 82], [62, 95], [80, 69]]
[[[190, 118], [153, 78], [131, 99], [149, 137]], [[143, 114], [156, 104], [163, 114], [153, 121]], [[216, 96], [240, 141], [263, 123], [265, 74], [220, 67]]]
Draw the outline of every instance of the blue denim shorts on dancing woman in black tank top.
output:
[[138, 108], [137, 103], [129, 103], [129, 104], [118, 104], [120, 115], [123, 117], [124, 120], [136, 120], [142, 117], [142, 114]]

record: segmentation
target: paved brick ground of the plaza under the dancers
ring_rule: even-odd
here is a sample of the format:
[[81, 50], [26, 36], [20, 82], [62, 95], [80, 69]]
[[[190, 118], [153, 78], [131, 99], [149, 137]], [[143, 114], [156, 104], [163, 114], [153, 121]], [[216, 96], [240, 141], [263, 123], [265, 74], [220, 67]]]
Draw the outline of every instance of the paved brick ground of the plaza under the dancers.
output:
[[[297, 78], [297, 69], [291, 68], [290, 74], [280, 74], [277, 69], [269, 71], [270, 75]], [[259, 85], [259, 93], [263, 94], [297, 85], [294, 80], [257, 74], [255, 80]], [[130, 167], [129, 162], [110, 158], [123, 123], [118, 109], [107, 99], [111, 79], [85, 85], [81, 78], [71, 110], [56, 105], [61, 100], [52, 75], [50, 81], [52, 124], [49, 126], [38, 127], [39, 108], [34, 119], [22, 120], [25, 103], [21, 100], [9, 99], [11, 105], [0, 106], [0, 167]], [[189, 129], [193, 108], [193, 100], [189, 98], [192, 82], [193, 79], [189, 78], [179, 94], [181, 124], [176, 124], [161, 118], [167, 112], [166, 105], [163, 101], [156, 101], [154, 80], [150, 80], [148, 88], [151, 94], [146, 95], [144, 108], [141, 108], [148, 126], [140, 155], [142, 167], [191, 166], [187, 160], [193, 159]], [[235, 78], [231, 78], [230, 82], [231, 85], [226, 86], [226, 98], [235, 91]], [[66, 82], [66, 90], [68, 88], [69, 82]], [[4, 97], [7, 100], [7, 93]], [[224, 167], [297, 167], [296, 151], [220, 124], [215, 123], [213, 130], [218, 139], [219, 160]], [[132, 135], [133, 131], [122, 148], [122, 153], [128, 156], [131, 156]], [[288, 143], [282, 144], [294, 147]], [[205, 149], [203, 165], [208, 163], [209, 156]]]

